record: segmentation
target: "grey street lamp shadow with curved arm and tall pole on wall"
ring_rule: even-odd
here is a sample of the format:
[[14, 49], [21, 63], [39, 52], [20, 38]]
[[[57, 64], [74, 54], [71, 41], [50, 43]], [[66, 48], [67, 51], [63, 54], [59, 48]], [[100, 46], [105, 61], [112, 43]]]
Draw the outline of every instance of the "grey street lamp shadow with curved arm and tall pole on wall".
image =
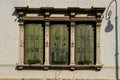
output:
[[119, 62], [118, 62], [118, 15], [117, 15], [117, 0], [112, 0], [106, 11], [106, 20], [107, 26], [105, 28], [105, 32], [111, 32], [113, 30], [113, 24], [111, 23], [110, 17], [112, 15], [112, 11], [110, 10], [111, 4], [115, 2], [115, 79], [119, 80]]

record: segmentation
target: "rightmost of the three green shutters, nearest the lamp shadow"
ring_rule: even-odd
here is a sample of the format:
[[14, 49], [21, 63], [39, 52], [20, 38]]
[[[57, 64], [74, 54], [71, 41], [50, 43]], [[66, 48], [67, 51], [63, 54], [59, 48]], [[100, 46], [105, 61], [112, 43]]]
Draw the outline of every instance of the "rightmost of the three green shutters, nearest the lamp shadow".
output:
[[76, 25], [76, 64], [94, 63], [94, 30], [91, 24]]

